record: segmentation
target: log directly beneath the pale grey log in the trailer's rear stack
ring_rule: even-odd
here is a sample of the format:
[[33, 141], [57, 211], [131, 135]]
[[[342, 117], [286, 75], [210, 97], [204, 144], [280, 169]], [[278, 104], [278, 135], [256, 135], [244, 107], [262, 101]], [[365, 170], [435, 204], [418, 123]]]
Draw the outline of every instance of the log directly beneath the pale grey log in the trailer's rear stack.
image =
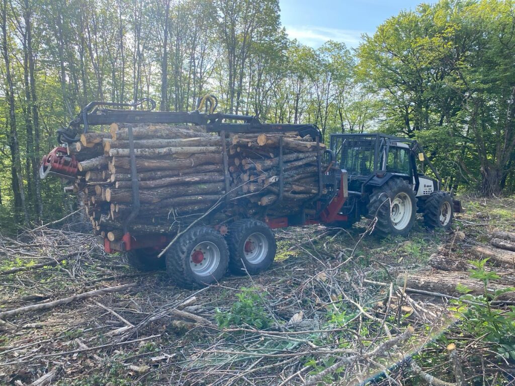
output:
[[[212, 164], [221, 165], [222, 155], [215, 153], [195, 154], [187, 159], [169, 159], [169, 160], [151, 160], [136, 159], [136, 168], [138, 171], [147, 170], [170, 170], [193, 168], [195, 166]], [[130, 169], [130, 160], [128, 157], [114, 157], [112, 161], [112, 172], [116, 173], [116, 168], [121, 167]]]

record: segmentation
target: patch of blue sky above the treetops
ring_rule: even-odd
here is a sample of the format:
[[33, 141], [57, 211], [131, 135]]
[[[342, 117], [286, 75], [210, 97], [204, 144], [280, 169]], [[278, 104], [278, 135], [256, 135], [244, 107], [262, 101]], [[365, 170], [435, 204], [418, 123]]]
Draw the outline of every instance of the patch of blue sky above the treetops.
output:
[[[415, 9], [423, 0], [279, 0], [281, 21], [291, 39], [318, 47], [327, 40], [357, 47], [388, 17]], [[431, 3], [431, 1], [425, 1]]]

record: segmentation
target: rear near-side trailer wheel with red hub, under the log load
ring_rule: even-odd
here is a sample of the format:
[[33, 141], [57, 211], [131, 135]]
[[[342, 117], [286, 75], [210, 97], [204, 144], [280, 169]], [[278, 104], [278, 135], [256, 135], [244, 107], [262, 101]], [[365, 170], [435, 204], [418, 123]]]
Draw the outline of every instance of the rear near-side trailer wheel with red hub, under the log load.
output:
[[224, 237], [208, 226], [188, 230], [166, 252], [166, 271], [181, 287], [207, 286], [227, 272]]

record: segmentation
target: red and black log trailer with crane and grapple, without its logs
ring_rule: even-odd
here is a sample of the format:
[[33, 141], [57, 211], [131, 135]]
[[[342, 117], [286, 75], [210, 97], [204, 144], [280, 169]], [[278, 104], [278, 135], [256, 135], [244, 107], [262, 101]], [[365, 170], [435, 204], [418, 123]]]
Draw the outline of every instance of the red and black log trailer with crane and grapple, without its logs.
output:
[[[136, 110], [148, 104], [147, 110]], [[191, 124], [205, 127], [208, 133], [226, 138], [229, 134], [242, 133], [285, 133], [296, 132], [300, 137], [310, 136], [320, 150], [316, 159], [318, 168], [318, 194], [307, 204], [310, 209], [300, 207], [294, 214], [272, 217], [264, 221], [248, 217], [227, 219], [222, 226], [194, 225], [179, 234], [171, 245], [169, 242], [176, 234], [146, 234], [134, 237], [130, 232], [131, 222], [140, 213], [140, 190], [134, 138], [131, 126], [128, 126], [130, 154], [132, 210], [123, 224], [123, 237], [119, 241], [102, 238], [101, 242], [107, 253], [125, 252], [132, 266], [141, 270], [166, 268], [175, 282], [183, 287], [209, 285], [217, 282], [229, 268], [236, 274], [256, 274], [266, 270], [276, 254], [276, 241], [271, 229], [307, 224], [330, 224], [347, 221], [347, 215], [341, 213], [347, 192], [347, 175], [335, 163], [335, 154], [330, 149], [322, 148], [321, 133], [316, 125], [264, 124], [257, 117], [248, 115], [215, 113], [217, 100], [213, 96], [205, 96], [199, 101], [197, 110], [193, 112], [160, 112], [153, 111], [155, 101], [145, 98], [135, 103], [91, 102], [73, 119], [67, 128], [58, 130], [60, 145], [43, 157], [40, 177], [48, 175], [60, 178], [75, 179], [78, 173], [78, 162], [70, 154], [68, 147], [79, 141], [81, 133], [87, 133], [91, 127], [111, 125], [116, 122], [128, 124]], [[129, 110], [130, 108], [131, 110]], [[228, 154], [225, 141], [222, 141], [222, 160], [226, 183], [226, 200], [216, 211], [219, 212], [229, 203], [227, 192]], [[279, 191], [277, 202], [281, 205], [284, 191], [283, 178], [283, 141], [279, 137], [278, 152]], [[306, 206], [307, 206], [306, 204]], [[314, 208], [314, 210], [312, 209]], [[165, 256], [158, 255], [167, 248]]]

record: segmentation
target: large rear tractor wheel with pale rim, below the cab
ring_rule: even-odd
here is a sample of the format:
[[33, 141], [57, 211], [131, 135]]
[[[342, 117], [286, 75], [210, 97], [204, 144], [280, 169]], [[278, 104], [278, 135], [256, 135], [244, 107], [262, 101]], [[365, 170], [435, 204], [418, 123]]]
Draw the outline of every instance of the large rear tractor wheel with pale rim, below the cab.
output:
[[416, 213], [415, 192], [401, 178], [388, 180], [370, 195], [368, 215], [377, 219], [373, 230], [376, 236], [407, 236], [415, 224]]

